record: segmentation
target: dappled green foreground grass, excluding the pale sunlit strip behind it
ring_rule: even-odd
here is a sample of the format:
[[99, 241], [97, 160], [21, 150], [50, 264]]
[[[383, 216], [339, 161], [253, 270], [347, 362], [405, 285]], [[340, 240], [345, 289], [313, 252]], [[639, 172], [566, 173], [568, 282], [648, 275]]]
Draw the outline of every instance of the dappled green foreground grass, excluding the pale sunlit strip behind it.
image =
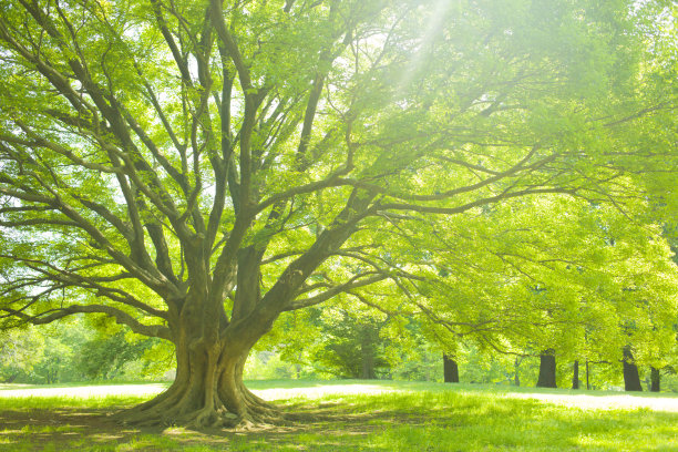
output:
[[280, 423], [247, 431], [123, 427], [111, 419], [122, 407], [7, 410], [0, 451], [678, 450], [678, 415], [649, 410], [431, 393], [279, 404]]

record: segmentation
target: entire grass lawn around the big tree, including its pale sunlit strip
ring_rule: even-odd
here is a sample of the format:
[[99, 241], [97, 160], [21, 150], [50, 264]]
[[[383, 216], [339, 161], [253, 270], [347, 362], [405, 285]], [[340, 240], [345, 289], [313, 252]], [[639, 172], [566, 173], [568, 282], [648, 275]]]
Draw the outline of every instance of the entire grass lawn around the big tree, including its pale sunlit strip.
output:
[[6, 387], [0, 451], [678, 451], [677, 394], [393, 381], [249, 387], [298, 419], [255, 431], [137, 429], [109, 414], [148, 396], [78, 397], [66, 387], [71, 396], [3, 397]]

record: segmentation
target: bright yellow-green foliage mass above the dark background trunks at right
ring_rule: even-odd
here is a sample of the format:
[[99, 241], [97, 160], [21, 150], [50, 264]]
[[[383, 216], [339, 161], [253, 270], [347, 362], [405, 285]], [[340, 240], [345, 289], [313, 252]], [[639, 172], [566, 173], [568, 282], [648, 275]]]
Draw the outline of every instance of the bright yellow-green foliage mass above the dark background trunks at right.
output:
[[[438, 316], [433, 336], [449, 336], [445, 327], [454, 323], [454, 335], [475, 337], [485, 348], [518, 357], [552, 349], [563, 362], [620, 362], [629, 340], [646, 350], [648, 364], [671, 356], [678, 275], [657, 225], [566, 199], [538, 206], [537, 215], [524, 201], [508, 203], [492, 213], [491, 224], [473, 223], [473, 234], [465, 232], [469, 223], [445, 234], [409, 234], [421, 237], [420, 247], [438, 249], [430, 266], [445, 269], [428, 271], [428, 284], [419, 286], [421, 302]], [[427, 236], [458, 239], [451, 246]], [[636, 326], [631, 332], [628, 322]]]

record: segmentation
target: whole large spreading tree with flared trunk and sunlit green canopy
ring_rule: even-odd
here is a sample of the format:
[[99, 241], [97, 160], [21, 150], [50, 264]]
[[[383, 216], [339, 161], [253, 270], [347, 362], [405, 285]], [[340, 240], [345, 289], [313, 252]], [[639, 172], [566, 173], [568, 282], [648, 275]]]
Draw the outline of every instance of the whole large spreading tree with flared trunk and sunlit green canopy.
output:
[[624, 209], [660, 184], [645, 176], [672, 174], [667, 28], [653, 28], [667, 11], [6, 2], [6, 323], [99, 314], [171, 341], [176, 380], [129, 421], [274, 418], [243, 384], [249, 350], [282, 312], [342, 292], [407, 301], [421, 249], [389, 237], [518, 197]]

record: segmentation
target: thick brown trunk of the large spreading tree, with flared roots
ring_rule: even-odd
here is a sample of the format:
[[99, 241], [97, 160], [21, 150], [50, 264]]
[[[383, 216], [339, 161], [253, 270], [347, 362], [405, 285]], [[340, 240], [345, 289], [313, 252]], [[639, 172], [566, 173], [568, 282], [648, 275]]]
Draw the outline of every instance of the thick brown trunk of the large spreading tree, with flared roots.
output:
[[[240, 316], [250, 311], [243, 310]], [[174, 382], [156, 398], [120, 413], [122, 422], [203, 429], [247, 428], [280, 419], [274, 405], [243, 383], [249, 350], [273, 320], [234, 318], [227, 323], [222, 314], [220, 306], [184, 305], [181, 318], [172, 325], [177, 364]]]

